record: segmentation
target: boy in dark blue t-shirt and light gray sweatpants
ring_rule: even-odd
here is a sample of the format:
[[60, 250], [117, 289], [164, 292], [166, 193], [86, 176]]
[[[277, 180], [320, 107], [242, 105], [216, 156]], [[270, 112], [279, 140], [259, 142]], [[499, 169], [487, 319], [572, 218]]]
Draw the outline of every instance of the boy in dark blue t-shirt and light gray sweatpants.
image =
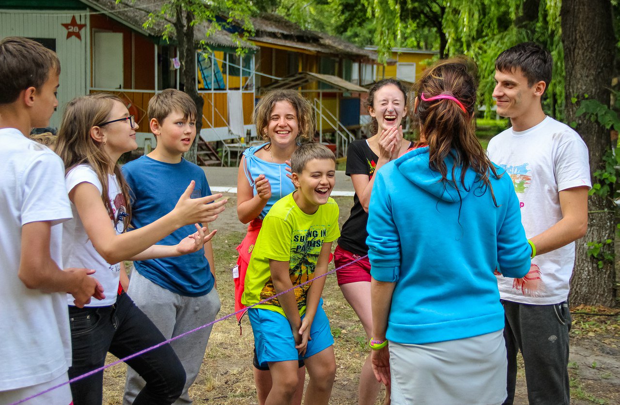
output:
[[[131, 188], [131, 225], [136, 228], [170, 212], [192, 180], [196, 182], [192, 198], [211, 194], [205, 172], [182, 157], [196, 137], [198, 114], [190, 96], [166, 89], [149, 101], [148, 117], [157, 147], [123, 166], [123, 175]], [[179, 237], [194, 232], [192, 225], [181, 227], [158, 243], [174, 245]], [[205, 240], [210, 241], [215, 232]], [[166, 339], [215, 319], [220, 303], [214, 288], [211, 242], [205, 243], [204, 252], [143, 260], [134, 265], [136, 271], [131, 273], [127, 292]], [[211, 327], [206, 327], [171, 343], [187, 374], [179, 401], [191, 403], [187, 389], [198, 375], [210, 334]], [[143, 386], [144, 380], [129, 368], [123, 404], [133, 403]]]

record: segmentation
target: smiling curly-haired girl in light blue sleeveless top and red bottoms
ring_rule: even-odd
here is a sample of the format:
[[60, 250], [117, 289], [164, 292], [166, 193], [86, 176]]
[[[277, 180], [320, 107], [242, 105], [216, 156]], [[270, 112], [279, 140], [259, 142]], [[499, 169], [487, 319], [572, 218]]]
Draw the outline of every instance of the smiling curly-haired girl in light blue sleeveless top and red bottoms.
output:
[[[287, 162], [299, 141], [314, 135], [312, 106], [294, 90], [274, 90], [265, 94], [254, 108], [252, 121], [257, 134], [267, 142], [243, 153], [237, 174], [237, 216], [239, 221], [249, 222], [249, 225], [246, 237], [237, 246], [239, 259], [233, 273], [236, 311], [244, 307], [241, 304], [244, 279], [262, 219], [273, 203], [294, 191]], [[239, 322], [241, 316], [242, 313], [237, 314]], [[301, 404], [305, 376], [306, 368], [301, 362], [293, 404]], [[260, 366], [255, 355], [254, 383], [262, 405], [271, 390], [272, 379], [269, 369]]]

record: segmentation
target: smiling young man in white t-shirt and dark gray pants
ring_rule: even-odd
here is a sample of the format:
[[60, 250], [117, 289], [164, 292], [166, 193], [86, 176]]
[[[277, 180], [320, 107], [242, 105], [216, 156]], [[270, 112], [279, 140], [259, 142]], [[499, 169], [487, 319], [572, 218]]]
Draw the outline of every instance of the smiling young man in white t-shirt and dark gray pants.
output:
[[526, 278], [539, 277], [542, 284], [529, 294], [525, 280], [498, 276], [508, 352], [505, 404], [512, 404], [515, 396], [518, 350], [530, 404], [568, 405], [570, 400], [567, 300], [574, 241], [585, 235], [588, 225], [591, 181], [581, 137], [542, 111], [551, 71], [551, 54], [535, 43], [520, 43], [495, 61], [497, 113], [510, 117], [512, 127], [489, 142], [489, 157], [513, 180], [523, 226], [535, 247]]

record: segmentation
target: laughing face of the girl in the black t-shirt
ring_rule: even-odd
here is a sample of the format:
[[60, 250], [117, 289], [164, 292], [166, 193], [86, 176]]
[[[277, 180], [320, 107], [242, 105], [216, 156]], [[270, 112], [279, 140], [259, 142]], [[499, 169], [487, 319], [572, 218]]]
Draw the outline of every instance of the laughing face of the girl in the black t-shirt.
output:
[[386, 84], [374, 92], [373, 105], [368, 106], [368, 113], [377, 120], [379, 133], [397, 127], [407, 114], [405, 95], [394, 84]]

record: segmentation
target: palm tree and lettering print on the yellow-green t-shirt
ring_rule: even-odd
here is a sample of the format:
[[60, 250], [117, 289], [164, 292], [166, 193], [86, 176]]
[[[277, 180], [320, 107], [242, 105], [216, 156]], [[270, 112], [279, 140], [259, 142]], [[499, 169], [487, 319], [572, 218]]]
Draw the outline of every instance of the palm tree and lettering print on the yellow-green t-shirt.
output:
[[[312, 225], [309, 230], [296, 230], [293, 232], [291, 258], [288, 265], [288, 272], [293, 286], [314, 278], [314, 269], [316, 268], [317, 260], [319, 260], [319, 253], [321, 253], [325, 235], [327, 235], [327, 227], [325, 225]], [[295, 301], [297, 301], [297, 309], [301, 310], [306, 306], [306, 291], [308, 291], [311, 284], [308, 283], [293, 290]], [[260, 301], [275, 294], [276, 291], [273, 287], [272, 278], [269, 278], [260, 291]], [[267, 301], [265, 304], [281, 307], [277, 298]]]

